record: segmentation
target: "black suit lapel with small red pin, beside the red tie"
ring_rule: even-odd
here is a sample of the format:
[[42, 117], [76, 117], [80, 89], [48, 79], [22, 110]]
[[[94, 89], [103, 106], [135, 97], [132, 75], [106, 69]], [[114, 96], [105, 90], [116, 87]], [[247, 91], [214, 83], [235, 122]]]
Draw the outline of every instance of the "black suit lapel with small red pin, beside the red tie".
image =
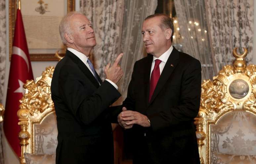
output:
[[159, 77], [159, 80], [156, 84], [156, 87], [155, 87], [154, 93], [151, 97], [151, 100], [149, 102], [149, 105], [152, 103], [152, 101], [155, 99], [155, 97], [159, 94], [159, 92], [163, 88], [164, 84], [169, 79], [170, 75], [172, 74], [173, 70], [176, 68], [176, 66], [179, 62], [178, 59], [179, 59], [179, 51], [173, 47], [171, 55], [169, 56], [165, 66], [163, 68], [163, 71]]

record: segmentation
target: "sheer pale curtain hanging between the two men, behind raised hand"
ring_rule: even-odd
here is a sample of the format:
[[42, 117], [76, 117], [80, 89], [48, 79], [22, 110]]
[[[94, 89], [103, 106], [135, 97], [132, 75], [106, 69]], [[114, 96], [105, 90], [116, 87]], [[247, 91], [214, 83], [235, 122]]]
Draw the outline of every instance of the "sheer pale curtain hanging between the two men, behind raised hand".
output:
[[134, 63], [145, 57], [141, 34], [142, 23], [147, 16], [154, 14], [156, 7], [157, 0], [125, 0], [121, 44], [124, 52], [121, 67], [124, 75], [119, 83], [122, 93], [121, 100], [127, 96]]

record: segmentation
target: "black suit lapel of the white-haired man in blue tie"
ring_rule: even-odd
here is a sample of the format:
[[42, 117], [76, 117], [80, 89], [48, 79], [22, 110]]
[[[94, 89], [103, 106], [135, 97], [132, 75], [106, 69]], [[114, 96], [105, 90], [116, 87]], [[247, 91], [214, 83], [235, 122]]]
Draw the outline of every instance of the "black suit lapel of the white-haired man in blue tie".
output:
[[[74, 63], [77, 64], [77, 66], [81, 69], [81, 71], [87, 76], [87, 78], [93, 83], [93, 85], [95, 85], [97, 88], [100, 86], [99, 83], [97, 82], [97, 80], [95, 79], [95, 77], [93, 76], [92, 72], [89, 70], [89, 68], [87, 68], [87, 66], [72, 52], [66, 50], [66, 57], [70, 58]], [[100, 81], [101, 78], [99, 77], [98, 73], [96, 72], [97, 77]]]

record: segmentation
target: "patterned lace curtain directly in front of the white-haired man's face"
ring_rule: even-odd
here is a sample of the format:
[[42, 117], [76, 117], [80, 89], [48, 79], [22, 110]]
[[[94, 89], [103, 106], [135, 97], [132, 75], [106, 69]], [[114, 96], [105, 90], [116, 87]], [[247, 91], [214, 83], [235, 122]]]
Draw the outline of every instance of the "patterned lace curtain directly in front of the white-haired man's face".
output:
[[97, 42], [93, 62], [105, 79], [105, 66], [121, 52], [124, 0], [80, 0], [80, 12], [92, 22]]

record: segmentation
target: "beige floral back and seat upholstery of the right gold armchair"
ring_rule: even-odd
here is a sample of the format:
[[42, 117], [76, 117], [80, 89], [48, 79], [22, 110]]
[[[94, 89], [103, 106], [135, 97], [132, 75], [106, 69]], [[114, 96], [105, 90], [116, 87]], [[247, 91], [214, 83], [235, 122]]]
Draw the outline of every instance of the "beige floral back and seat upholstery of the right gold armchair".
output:
[[245, 111], [231, 112], [210, 128], [211, 163], [256, 162], [255, 115]]

